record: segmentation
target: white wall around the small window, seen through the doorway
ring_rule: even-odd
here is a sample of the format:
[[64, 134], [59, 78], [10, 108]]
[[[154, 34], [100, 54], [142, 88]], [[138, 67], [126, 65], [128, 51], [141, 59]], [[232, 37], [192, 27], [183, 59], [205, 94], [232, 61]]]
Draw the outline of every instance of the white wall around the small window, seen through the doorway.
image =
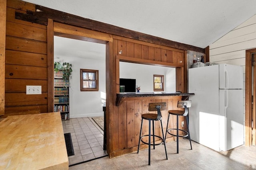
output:
[[[106, 64], [102, 60], [78, 57], [60, 57], [56, 61], [72, 64], [70, 80], [70, 118], [103, 116], [102, 106], [106, 101]], [[99, 91], [80, 91], [80, 68], [99, 70]]]

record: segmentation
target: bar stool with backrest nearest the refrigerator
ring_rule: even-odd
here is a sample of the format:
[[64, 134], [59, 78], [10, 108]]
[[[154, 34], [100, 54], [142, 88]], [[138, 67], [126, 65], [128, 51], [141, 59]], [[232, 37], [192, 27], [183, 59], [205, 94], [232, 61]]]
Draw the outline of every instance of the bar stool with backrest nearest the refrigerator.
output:
[[[167, 119], [167, 127], [166, 127], [166, 133], [165, 133], [165, 139], [167, 133], [169, 133], [172, 136], [176, 136], [176, 143], [177, 143], [177, 153], [179, 153], [179, 137], [188, 137], [190, 141], [190, 147], [192, 149], [191, 145], [191, 139], [190, 139], [190, 134], [189, 134], [189, 129], [188, 129], [188, 107], [191, 107], [191, 100], [180, 100], [178, 101], [178, 108], [184, 108], [184, 111], [182, 110], [168, 110], [168, 119]], [[168, 129], [168, 123], [169, 123], [169, 117], [170, 115], [176, 115], [177, 116], [177, 128], [176, 129]], [[184, 116], [186, 117], [186, 124], [187, 124], [187, 131], [184, 131], [183, 129], [179, 129], [179, 116]], [[171, 131], [176, 131], [176, 135], [171, 133]], [[185, 135], [179, 135], [179, 131], [183, 131]]]

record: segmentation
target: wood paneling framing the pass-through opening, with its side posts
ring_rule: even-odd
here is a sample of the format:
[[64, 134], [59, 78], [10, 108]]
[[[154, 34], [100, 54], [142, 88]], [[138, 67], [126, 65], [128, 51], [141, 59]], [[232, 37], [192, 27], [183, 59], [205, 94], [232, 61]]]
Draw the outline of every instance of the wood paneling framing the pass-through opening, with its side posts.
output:
[[186, 90], [186, 51], [134, 39], [113, 36], [116, 92], [119, 92], [119, 61], [176, 68], [176, 91]]

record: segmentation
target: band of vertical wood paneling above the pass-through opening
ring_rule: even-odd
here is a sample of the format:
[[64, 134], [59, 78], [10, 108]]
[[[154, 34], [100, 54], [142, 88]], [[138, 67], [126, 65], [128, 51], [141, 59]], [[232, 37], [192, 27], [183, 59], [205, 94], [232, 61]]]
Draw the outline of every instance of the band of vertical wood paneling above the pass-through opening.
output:
[[114, 54], [121, 61], [134, 61], [142, 64], [159, 64], [170, 67], [184, 66], [184, 50], [152, 43], [113, 36]]

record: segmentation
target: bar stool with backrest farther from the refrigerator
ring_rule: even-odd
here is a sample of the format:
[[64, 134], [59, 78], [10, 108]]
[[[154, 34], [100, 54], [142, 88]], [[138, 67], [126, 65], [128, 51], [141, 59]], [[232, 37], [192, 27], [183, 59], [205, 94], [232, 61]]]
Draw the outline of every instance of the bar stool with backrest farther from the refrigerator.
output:
[[[142, 120], [141, 120], [141, 126], [140, 126], [140, 138], [139, 138], [139, 144], [138, 144], [138, 152], [140, 149], [140, 141], [146, 145], [148, 145], [148, 165], [150, 165], [150, 146], [153, 146], [153, 149], [155, 149], [156, 145], [161, 145], [164, 143], [164, 149], [165, 149], [165, 154], [166, 154], [166, 159], [167, 158], [167, 152], [166, 152], [166, 145], [165, 145], [165, 138], [164, 138], [164, 130], [163, 130], [163, 125], [162, 125], [162, 114], [161, 110], [166, 110], [166, 102], [162, 103], [149, 103], [148, 104], [148, 111], [157, 111], [157, 114], [155, 113], [146, 113], [142, 114]], [[142, 132], [142, 124], [143, 124], [143, 119], [148, 120], [148, 135], [143, 135], [141, 136]], [[151, 135], [151, 121], [152, 121], [152, 129], [153, 129], [153, 135]], [[162, 137], [155, 135], [155, 129], [154, 129], [154, 121], [160, 121], [161, 122], [161, 129], [162, 129]], [[151, 136], [153, 137], [153, 144], [151, 143]], [[142, 139], [144, 137], [148, 137], [148, 143], [146, 141], [143, 141]], [[160, 143], [155, 143], [155, 138], [160, 139]]]

